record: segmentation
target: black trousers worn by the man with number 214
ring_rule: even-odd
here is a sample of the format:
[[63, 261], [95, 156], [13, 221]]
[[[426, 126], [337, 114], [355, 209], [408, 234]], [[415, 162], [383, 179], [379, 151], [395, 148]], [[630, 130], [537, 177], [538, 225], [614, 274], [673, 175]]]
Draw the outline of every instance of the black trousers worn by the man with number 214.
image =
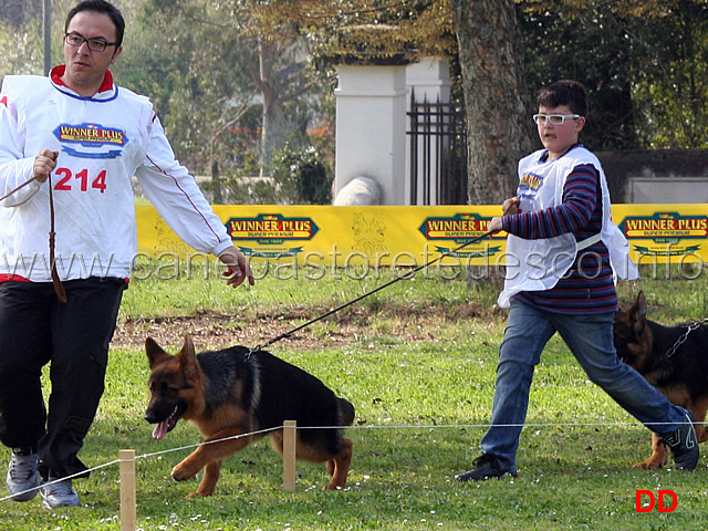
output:
[[[0, 283], [0, 441], [37, 448], [44, 477], [86, 470], [77, 458], [103, 395], [123, 279]], [[42, 367], [50, 365], [44, 404]]]

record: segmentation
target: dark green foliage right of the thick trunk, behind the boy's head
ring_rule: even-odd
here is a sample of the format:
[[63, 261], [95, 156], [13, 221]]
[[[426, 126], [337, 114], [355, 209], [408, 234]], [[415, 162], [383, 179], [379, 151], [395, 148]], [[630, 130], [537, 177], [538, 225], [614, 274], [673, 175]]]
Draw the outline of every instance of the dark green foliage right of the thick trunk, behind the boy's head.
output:
[[591, 91], [594, 149], [708, 147], [708, 3], [521, 0], [531, 94], [571, 77]]

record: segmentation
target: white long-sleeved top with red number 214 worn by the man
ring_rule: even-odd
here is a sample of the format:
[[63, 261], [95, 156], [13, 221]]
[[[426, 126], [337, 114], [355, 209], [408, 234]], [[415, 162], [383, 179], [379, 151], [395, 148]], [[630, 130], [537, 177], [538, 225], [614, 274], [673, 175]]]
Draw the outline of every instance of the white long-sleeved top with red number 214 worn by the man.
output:
[[137, 252], [132, 177], [169, 227], [199, 252], [231, 246], [221, 220], [179, 165], [149, 100], [113, 84], [106, 72], [93, 97], [60, 80], [6, 76], [0, 94], [0, 197], [33, 176], [44, 149], [59, 152], [45, 183], [0, 204], [0, 275], [51, 281], [52, 186], [56, 269], [62, 280], [127, 278]]

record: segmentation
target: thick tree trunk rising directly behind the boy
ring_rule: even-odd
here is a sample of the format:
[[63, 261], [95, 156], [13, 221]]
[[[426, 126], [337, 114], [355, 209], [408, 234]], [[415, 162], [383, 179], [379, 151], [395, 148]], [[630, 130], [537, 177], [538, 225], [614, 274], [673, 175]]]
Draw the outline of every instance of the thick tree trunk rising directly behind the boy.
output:
[[531, 150], [523, 55], [513, 0], [451, 0], [467, 108], [469, 202], [514, 195], [519, 158]]

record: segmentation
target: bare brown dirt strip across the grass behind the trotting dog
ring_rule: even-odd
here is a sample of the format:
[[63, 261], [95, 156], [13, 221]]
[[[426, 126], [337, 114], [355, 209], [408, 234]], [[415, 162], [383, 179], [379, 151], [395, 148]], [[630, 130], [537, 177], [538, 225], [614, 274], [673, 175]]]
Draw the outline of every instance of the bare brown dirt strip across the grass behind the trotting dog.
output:
[[[113, 347], [142, 348], [146, 337], [153, 337], [168, 351], [192, 336], [197, 350], [222, 348], [230, 345], [250, 347], [263, 345], [327, 313], [331, 309], [289, 309], [278, 314], [235, 315], [200, 312], [184, 316], [156, 316], [119, 320], [113, 336]], [[479, 304], [386, 305], [348, 308], [278, 340], [288, 348], [315, 350], [342, 347], [351, 342], [377, 334], [373, 323], [386, 323], [386, 333], [405, 341], [435, 340], [442, 323], [475, 317], [499, 317], [498, 309], [481, 309]], [[324, 324], [323, 323], [327, 323]]]

